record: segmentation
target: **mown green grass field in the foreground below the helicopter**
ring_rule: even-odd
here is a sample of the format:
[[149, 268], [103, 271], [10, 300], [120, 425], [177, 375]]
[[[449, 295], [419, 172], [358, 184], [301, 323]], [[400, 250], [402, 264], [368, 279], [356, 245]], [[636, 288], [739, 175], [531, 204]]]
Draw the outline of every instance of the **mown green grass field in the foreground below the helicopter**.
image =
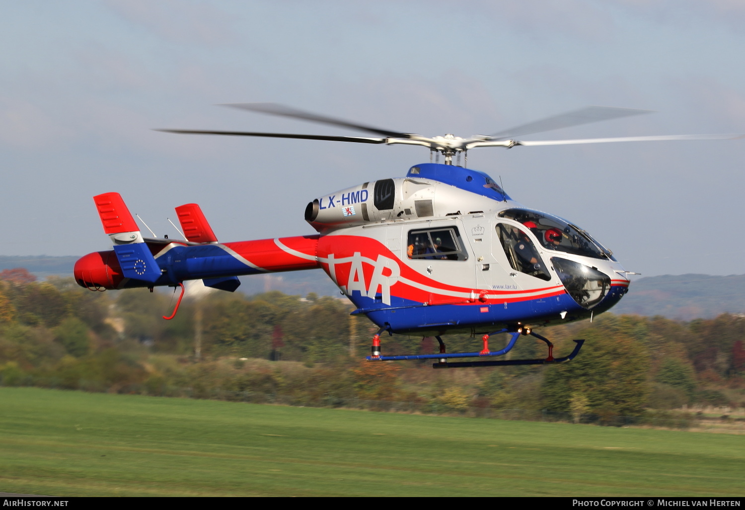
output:
[[741, 496], [745, 436], [0, 388], [0, 491]]

